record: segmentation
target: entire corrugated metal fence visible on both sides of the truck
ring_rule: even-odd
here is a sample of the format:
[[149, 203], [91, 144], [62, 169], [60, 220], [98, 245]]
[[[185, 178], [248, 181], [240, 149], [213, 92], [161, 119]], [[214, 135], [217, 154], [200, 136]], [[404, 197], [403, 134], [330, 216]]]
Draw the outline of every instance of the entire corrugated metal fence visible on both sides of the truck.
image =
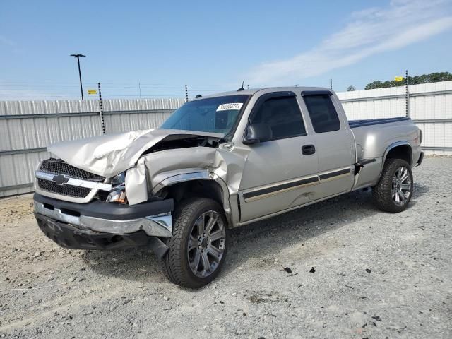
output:
[[[338, 93], [348, 119], [403, 117], [405, 87]], [[162, 124], [179, 99], [102, 100], [107, 133]], [[102, 134], [97, 100], [0, 102], [0, 196], [32, 191], [47, 145]], [[424, 132], [427, 153], [452, 155], [452, 81], [410, 85], [409, 116]]]

